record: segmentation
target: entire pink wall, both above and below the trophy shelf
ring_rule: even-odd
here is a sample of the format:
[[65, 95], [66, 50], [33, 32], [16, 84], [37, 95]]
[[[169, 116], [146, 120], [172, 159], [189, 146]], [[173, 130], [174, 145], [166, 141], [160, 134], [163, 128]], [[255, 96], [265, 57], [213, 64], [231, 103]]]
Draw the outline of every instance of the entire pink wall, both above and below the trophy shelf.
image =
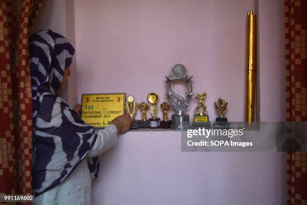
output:
[[[284, 121], [283, 3], [253, 0], [75, 0], [78, 99], [151, 91], [167, 100], [165, 75], [183, 63], [194, 92], [229, 102], [244, 119], [246, 13], [258, 12], [261, 121]], [[187, 110], [192, 120], [196, 100]], [[162, 117], [161, 111], [159, 116]], [[139, 113], [136, 118], [139, 118]], [[93, 204], [283, 204], [284, 153], [182, 153], [178, 132], [129, 132], [101, 156]]]

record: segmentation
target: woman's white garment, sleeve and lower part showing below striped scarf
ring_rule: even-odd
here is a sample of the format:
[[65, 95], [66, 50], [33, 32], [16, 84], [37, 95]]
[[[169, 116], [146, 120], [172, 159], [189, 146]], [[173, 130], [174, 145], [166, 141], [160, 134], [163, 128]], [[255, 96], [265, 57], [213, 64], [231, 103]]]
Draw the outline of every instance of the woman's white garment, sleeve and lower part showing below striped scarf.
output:
[[[99, 130], [97, 140], [87, 157], [95, 157], [112, 147], [117, 140], [117, 129], [115, 125], [110, 125], [103, 130]], [[91, 177], [85, 158], [77, 168], [64, 180], [64, 182], [54, 188], [35, 197], [34, 204], [42, 205], [77, 205], [91, 204]]]

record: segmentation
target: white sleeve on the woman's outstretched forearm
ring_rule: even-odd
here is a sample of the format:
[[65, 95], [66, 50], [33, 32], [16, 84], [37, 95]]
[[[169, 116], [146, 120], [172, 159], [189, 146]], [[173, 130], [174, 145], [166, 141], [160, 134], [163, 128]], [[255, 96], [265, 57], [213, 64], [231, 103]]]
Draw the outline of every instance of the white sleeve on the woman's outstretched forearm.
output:
[[103, 130], [96, 130], [97, 139], [88, 152], [87, 157], [95, 157], [111, 148], [117, 141], [117, 128], [115, 125], [111, 124]]

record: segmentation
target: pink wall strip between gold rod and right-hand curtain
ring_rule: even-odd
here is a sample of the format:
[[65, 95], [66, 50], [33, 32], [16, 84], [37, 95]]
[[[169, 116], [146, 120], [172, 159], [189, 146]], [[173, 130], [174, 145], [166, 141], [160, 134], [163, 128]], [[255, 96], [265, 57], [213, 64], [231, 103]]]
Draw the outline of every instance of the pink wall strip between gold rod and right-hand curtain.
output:
[[261, 121], [285, 121], [285, 43], [283, 1], [259, 1]]

